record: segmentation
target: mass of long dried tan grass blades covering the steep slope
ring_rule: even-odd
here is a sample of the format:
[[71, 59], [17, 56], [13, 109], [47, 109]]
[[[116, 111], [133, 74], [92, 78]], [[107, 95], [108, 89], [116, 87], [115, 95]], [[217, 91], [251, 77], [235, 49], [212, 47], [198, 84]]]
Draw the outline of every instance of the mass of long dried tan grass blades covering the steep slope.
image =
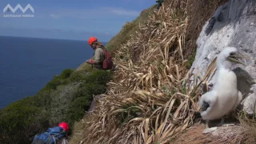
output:
[[182, 55], [187, 23], [186, 1], [174, 0], [120, 47], [118, 70], [81, 143], [168, 143], [192, 125], [207, 78], [191, 80], [187, 74]]

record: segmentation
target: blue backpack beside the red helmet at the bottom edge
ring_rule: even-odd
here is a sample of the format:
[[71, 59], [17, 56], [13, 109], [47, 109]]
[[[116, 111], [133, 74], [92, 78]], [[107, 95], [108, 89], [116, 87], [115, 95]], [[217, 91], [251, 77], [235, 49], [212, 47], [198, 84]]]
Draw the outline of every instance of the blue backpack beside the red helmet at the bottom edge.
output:
[[42, 134], [37, 134], [34, 136], [33, 142], [31, 144], [57, 144], [60, 138], [64, 138], [66, 131], [62, 127], [55, 126], [53, 128], [48, 128]]

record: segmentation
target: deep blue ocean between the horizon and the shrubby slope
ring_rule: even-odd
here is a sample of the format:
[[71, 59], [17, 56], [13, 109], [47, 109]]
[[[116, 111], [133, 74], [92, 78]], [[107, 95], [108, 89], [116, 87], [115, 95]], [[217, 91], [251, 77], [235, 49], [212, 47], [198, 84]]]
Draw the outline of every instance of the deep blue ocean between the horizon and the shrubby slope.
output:
[[54, 74], [93, 54], [86, 41], [0, 36], [0, 109], [37, 94]]

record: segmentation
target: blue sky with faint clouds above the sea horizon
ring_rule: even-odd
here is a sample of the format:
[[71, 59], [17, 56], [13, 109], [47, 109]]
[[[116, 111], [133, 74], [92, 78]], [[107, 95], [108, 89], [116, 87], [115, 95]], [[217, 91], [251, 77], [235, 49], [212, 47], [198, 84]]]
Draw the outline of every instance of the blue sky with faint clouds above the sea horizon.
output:
[[[34, 18], [6, 18], [6, 14], [23, 14], [21, 10], [3, 13], [7, 4], [30, 4]], [[107, 42], [126, 22], [131, 22], [155, 4], [154, 0], [1, 0], [0, 35], [87, 40], [97, 36]]]

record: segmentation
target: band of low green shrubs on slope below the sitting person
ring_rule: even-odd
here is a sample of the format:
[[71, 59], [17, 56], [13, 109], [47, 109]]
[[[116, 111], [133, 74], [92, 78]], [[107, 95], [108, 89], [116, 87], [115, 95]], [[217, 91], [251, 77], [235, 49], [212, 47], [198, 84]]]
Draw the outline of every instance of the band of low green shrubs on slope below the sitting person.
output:
[[105, 70], [63, 70], [32, 97], [0, 111], [0, 143], [30, 143], [35, 134], [59, 122], [73, 124], [89, 109], [93, 95], [104, 94], [111, 74]]

